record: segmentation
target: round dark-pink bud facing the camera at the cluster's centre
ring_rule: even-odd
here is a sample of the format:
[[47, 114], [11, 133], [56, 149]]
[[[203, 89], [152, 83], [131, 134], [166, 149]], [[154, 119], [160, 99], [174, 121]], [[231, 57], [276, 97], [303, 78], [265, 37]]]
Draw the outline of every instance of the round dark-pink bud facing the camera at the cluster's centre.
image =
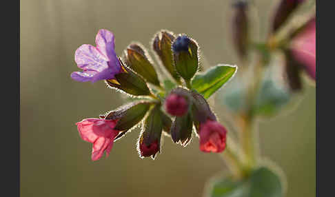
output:
[[183, 116], [188, 110], [188, 103], [183, 96], [172, 93], [165, 100], [165, 109], [172, 116]]

